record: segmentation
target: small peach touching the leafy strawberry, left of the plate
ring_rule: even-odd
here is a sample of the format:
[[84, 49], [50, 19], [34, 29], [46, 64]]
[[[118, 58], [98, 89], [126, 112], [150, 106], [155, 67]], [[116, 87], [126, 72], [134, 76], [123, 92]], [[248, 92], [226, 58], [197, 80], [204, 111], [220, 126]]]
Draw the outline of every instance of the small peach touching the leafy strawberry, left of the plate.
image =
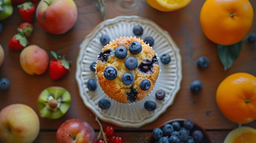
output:
[[48, 68], [49, 56], [44, 49], [29, 45], [20, 53], [20, 65], [29, 75], [41, 75]]

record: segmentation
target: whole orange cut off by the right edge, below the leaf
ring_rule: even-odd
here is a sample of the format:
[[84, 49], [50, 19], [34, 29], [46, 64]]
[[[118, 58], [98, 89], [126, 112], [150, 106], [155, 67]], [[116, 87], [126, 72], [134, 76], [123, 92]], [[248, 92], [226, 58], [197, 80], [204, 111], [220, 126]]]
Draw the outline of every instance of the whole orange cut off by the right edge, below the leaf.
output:
[[256, 119], [256, 77], [249, 73], [234, 73], [225, 78], [216, 92], [216, 102], [222, 114], [236, 123]]

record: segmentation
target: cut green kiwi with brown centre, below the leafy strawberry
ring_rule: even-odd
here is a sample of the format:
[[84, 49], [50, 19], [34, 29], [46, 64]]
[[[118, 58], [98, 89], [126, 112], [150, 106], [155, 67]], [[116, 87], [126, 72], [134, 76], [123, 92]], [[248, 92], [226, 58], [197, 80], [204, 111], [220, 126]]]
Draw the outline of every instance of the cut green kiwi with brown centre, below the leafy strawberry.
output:
[[62, 87], [46, 88], [39, 95], [37, 106], [42, 117], [58, 119], [70, 108], [70, 93]]

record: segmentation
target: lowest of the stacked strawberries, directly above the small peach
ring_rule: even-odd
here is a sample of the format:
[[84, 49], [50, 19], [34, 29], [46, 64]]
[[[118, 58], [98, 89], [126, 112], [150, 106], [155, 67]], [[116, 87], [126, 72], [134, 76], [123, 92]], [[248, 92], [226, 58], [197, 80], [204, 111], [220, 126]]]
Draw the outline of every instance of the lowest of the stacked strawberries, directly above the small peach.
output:
[[9, 48], [12, 50], [22, 50], [25, 46], [27, 46], [27, 38], [22, 33], [18, 33], [14, 35], [10, 42]]

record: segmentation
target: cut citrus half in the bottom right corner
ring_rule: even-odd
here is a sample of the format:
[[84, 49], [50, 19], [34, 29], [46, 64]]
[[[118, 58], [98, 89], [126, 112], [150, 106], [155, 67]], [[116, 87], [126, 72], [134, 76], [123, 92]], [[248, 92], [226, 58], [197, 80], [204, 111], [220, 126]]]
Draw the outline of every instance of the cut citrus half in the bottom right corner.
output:
[[240, 127], [232, 130], [223, 143], [255, 143], [256, 130], [251, 127]]

